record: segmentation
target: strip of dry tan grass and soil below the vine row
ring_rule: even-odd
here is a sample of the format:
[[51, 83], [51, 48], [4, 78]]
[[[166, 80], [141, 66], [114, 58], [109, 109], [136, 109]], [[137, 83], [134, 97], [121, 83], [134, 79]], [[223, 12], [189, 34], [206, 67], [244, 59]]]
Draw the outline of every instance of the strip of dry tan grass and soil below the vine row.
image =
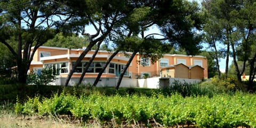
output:
[[[150, 127], [163, 127], [157, 122], [150, 121]], [[82, 124], [79, 122], [79, 119], [71, 119], [69, 117], [60, 117], [60, 118], [52, 118], [52, 117], [38, 117], [38, 116], [15, 116], [15, 115], [1, 115], [0, 116], [0, 128], [4, 127], [35, 127], [35, 128], [73, 128], [73, 127], [147, 127], [145, 124], [141, 123], [122, 123], [122, 125], [115, 125], [115, 122], [109, 122], [105, 125], [99, 125], [99, 123], [95, 123], [92, 121], [88, 124]], [[177, 126], [174, 126], [177, 127]], [[178, 126], [178, 127], [188, 127], [187, 125]], [[193, 125], [189, 127], [195, 127]]]

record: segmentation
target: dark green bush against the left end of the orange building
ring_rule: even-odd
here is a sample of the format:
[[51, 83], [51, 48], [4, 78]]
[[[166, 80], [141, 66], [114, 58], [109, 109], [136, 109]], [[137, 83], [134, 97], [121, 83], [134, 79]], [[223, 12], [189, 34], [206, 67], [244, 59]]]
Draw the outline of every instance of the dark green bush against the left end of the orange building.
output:
[[41, 74], [35, 74], [33, 71], [28, 75], [27, 84], [33, 85], [47, 85], [55, 81], [55, 76], [53, 74], [53, 69], [44, 68]]

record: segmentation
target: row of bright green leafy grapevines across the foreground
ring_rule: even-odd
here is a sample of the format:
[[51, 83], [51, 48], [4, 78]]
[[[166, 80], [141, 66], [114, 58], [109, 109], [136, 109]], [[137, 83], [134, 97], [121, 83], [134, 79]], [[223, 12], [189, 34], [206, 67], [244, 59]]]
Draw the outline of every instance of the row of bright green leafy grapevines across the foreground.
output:
[[111, 95], [101, 94], [82, 95], [79, 98], [69, 94], [53, 95], [52, 98], [38, 101], [38, 97], [31, 98], [25, 103], [16, 104], [17, 111], [38, 115], [71, 114], [83, 117], [83, 121], [94, 119], [102, 124], [108, 122], [135, 121], [147, 124], [148, 119], [154, 118], [164, 126], [195, 125], [198, 127], [255, 127], [256, 107], [255, 94], [235, 92], [229, 94], [214, 94], [212, 98], [182, 97], [173, 94], [165, 97], [154, 94], [152, 97], [143, 95]]

